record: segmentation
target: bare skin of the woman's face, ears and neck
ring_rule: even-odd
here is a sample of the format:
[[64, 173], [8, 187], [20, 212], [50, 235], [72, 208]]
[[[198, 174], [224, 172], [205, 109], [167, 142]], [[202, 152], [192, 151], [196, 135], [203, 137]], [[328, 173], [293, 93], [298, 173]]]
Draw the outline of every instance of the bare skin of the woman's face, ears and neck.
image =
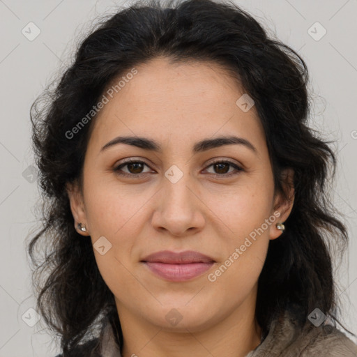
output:
[[[282, 234], [275, 224], [291, 212], [294, 189], [290, 201], [274, 197], [271, 162], [255, 107], [243, 112], [236, 105], [244, 91], [215, 63], [171, 64], [157, 58], [136, 68], [137, 75], [93, 123], [82, 192], [68, 185], [75, 225], [86, 227], [79, 233], [84, 239], [90, 236], [93, 244], [101, 236], [112, 244], [105, 255], [96, 249], [94, 253], [116, 298], [123, 357], [245, 356], [260, 343], [257, 280], [269, 240]], [[154, 139], [162, 151], [117, 144], [100, 152], [119, 135]], [[192, 154], [199, 140], [221, 135], [248, 139], [257, 153], [230, 144]], [[141, 178], [114, 172], [125, 158], [145, 162], [121, 167]], [[244, 171], [211, 165], [218, 159]], [[165, 176], [172, 165], [183, 174], [176, 183]], [[231, 172], [236, 174], [227, 176]], [[291, 182], [292, 172], [286, 174]], [[209, 281], [208, 274], [276, 211], [280, 218]], [[197, 278], [170, 282], [140, 262], [160, 250], [195, 250], [216, 262]], [[181, 318], [178, 324], [165, 318], [172, 309]]]

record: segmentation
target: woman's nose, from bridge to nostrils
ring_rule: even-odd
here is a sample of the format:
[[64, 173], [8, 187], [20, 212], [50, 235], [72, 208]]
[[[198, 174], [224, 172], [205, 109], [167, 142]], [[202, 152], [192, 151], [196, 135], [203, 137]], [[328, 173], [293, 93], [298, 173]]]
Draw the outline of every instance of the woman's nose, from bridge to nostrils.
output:
[[172, 236], [187, 236], [201, 230], [205, 224], [204, 203], [195, 183], [186, 172], [174, 183], [164, 177], [158, 192], [152, 225]]

